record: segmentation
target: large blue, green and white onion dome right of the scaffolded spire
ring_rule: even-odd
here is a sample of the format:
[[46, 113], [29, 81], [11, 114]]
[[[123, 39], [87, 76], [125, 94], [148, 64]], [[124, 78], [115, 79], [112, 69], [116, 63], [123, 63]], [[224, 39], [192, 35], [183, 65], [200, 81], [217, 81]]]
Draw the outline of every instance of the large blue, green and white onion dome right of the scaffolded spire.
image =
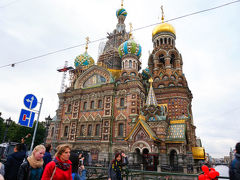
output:
[[122, 43], [118, 48], [118, 53], [120, 58], [127, 54], [133, 54], [140, 58], [142, 52], [142, 47], [140, 44], [137, 44], [133, 39], [129, 39]]

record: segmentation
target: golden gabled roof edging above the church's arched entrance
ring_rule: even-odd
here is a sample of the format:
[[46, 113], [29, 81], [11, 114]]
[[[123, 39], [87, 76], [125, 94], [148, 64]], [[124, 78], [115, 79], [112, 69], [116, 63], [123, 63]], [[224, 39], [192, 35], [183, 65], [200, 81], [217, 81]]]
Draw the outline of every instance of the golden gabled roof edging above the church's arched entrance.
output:
[[125, 138], [125, 140], [128, 140], [133, 135], [133, 133], [136, 131], [137, 127], [139, 127], [139, 126], [142, 126], [144, 128], [144, 130], [148, 133], [148, 135], [150, 136], [151, 139], [153, 139], [154, 141], [160, 141], [160, 139], [157, 137], [155, 132], [151, 129], [151, 127], [145, 121], [145, 117], [143, 115], [138, 116], [138, 121], [134, 125], [134, 127], [131, 130], [131, 132], [129, 133], [129, 135]]

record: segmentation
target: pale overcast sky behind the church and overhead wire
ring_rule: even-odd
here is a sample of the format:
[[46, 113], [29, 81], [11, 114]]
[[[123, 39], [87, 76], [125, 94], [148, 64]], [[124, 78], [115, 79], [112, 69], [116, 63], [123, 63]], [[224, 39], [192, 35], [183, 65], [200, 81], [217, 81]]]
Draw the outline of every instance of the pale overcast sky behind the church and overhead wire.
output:
[[[133, 29], [165, 19], [212, 8], [229, 0], [125, 0], [125, 24]], [[0, 66], [106, 37], [117, 24], [120, 0], [0, 0]], [[176, 30], [176, 47], [182, 54], [183, 72], [193, 94], [196, 135], [213, 157], [229, 154], [240, 141], [240, 2], [169, 22]], [[142, 46], [143, 68], [152, 51], [154, 26], [133, 32]], [[88, 53], [98, 57], [99, 42]], [[55, 115], [62, 73], [73, 65], [84, 46], [33, 61], [0, 68], [0, 112], [16, 122], [26, 94], [43, 98], [40, 121]], [[66, 82], [67, 83], [67, 82]]]

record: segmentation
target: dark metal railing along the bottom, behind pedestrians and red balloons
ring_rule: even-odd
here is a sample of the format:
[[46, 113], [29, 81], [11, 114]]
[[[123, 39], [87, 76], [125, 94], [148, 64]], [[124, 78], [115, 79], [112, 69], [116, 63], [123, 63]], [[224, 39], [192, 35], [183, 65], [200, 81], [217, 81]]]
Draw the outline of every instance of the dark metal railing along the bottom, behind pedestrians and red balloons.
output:
[[[108, 177], [107, 167], [92, 167], [86, 166], [87, 179], [89, 180], [106, 180]], [[143, 171], [123, 168], [122, 176], [124, 180], [197, 180], [199, 174], [184, 174], [173, 172], [156, 172], [156, 171]], [[229, 179], [229, 177], [217, 177], [219, 179]]]

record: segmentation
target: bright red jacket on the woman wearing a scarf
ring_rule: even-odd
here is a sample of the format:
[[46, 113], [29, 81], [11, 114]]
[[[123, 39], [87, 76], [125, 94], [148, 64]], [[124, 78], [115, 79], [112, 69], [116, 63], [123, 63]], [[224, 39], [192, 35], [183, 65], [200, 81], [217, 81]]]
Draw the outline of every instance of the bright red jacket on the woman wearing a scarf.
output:
[[[57, 160], [62, 162], [59, 158], [57, 158]], [[70, 160], [66, 161], [65, 163], [72, 164]], [[55, 166], [56, 164], [54, 161], [51, 161], [46, 165], [43, 171], [42, 180], [50, 180]], [[53, 180], [72, 180], [72, 165], [67, 171], [64, 171], [57, 167], [53, 176]]]

